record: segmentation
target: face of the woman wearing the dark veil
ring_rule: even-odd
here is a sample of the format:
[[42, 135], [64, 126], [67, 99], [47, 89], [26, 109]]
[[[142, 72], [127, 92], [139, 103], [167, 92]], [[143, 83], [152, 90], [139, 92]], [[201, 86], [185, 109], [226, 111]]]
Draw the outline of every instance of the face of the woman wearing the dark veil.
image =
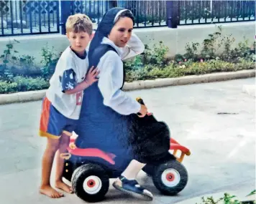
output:
[[129, 17], [121, 17], [109, 34], [109, 39], [117, 47], [124, 47], [132, 36], [133, 22]]

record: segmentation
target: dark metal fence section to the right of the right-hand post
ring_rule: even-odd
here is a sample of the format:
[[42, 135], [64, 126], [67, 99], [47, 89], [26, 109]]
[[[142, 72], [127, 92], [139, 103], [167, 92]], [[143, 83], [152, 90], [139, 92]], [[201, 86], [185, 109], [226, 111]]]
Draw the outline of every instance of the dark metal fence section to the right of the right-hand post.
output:
[[255, 1], [179, 1], [179, 25], [255, 21]]

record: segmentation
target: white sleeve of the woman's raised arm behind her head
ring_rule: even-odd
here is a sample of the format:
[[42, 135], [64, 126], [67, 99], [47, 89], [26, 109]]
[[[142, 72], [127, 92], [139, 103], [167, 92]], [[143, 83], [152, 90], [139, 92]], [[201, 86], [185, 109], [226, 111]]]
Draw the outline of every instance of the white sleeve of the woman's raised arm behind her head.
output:
[[138, 54], [142, 54], [145, 50], [145, 45], [142, 43], [139, 37], [132, 31], [132, 37], [127, 42], [127, 45], [122, 48], [122, 60], [135, 57]]

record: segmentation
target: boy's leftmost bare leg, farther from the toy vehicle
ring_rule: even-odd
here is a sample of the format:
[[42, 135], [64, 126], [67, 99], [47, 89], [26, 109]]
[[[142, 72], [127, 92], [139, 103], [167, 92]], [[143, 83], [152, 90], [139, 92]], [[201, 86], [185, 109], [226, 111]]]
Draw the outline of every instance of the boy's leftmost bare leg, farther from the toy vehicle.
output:
[[55, 152], [58, 150], [59, 140], [47, 138], [47, 147], [42, 156], [42, 183], [40, 186], [40, 193], [49, 196], [50, 198], [60, 198], [63, 196], [50, 185], [50, 173], [52, 170], [52, 162], [54, 160]]

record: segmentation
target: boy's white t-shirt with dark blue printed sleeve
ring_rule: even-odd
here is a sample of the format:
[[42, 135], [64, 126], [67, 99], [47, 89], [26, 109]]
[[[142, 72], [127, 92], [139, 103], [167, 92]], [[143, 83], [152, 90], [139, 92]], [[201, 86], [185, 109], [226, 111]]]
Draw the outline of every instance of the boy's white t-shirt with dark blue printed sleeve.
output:
[[83, 91], [65, 94], [65, 90], [74, 89], [86, 77], [88, 57], [80, 58], [70, 47], [61, 54], [55, 72], [50, 79], [46, 97], [65, 117], [78, 120], [81, 112]]

